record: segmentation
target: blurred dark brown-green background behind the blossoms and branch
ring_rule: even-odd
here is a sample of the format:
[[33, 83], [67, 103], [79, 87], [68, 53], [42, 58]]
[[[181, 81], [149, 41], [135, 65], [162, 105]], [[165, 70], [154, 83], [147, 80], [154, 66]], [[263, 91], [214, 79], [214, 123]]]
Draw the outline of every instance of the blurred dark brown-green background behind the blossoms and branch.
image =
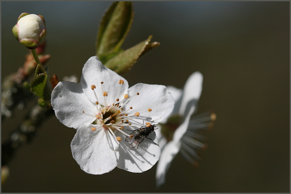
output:
[[[24, 63], [28, 50], [12, 35], [22, 12], [46, 20], [46, 65], [60, 80], [95, 55], [95, 39], [112, 2], [1, 2], [2, 77]], [[144, 173], [115, 168], [82, 171], [70, 142], [75, 130], [55, 116], [17, 150], [2, 192], [290, 192], [290, 2], [134, 2], [124, 49], [153, 35], [161, 45], [124, 74], [129, 85], [173, 85], [204, 76], [198, 112], [217, 119], [203, 132], [208, 148], [192, 167], [178, 154], [166, 182], [155, 186], [156, 165]], [[16, 110], [17, 111], [17, 110]], [[2, 142], [22, 115], [2, 122]]]

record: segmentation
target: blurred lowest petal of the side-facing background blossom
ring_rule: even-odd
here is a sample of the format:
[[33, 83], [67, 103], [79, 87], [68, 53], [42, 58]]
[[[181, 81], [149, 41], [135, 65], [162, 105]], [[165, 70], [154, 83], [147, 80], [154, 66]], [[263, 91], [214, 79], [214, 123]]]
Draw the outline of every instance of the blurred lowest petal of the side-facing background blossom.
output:
[[172, 160], [175, 158], [180, 150], [181, 144], [176, 144], [173, 141], [169, 141], [162, 150], [156, 171], [156, 183], [159, 187], [165, 182], [166, 173], [171, 165]]

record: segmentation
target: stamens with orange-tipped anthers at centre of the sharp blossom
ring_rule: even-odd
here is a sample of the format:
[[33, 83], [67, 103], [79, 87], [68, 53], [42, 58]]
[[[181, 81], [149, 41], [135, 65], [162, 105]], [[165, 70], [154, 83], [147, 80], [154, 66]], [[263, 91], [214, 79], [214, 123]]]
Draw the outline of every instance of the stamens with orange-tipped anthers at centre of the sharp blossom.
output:
[[[124, 84], [123, 80], [119, 80], [119, 90], [116, 95], [116, 100], [114, 101], [113, 104], [107, 104], [106, 97], [108, 96], [108, 94], [106, 91], [103, 90], [103, 84], [104, 82], [101, 82], [101, 90], [102, 90], [101, 92], [103, 94], [104, 104], [100, 104], [100, 101], [95, 93], [94, 89], [96, 89], [96, 86], [91, 85], [91, 89], [93, 90], [95, 98], [96, 98], [97, 114], [90, 115], [90, 114], [85, 113], [84, 111], [83, 113], [88, 116], [96, 118], [96, 120], [92, 124], [98, 125], [98, 127], [91, 127], [92, 131], [95, 131], [96, 129], [101, 129], [101, 128], [107, 129], [117, 141], [121, 141], [121, 137], [115, 136], [114, 134], [115, 130], [118, 130], [119, 132], [123, 133], [126, 136], [132, 136], [124, 132], [123, 127], [129, 126], [129, 125], [139, 126], [138, 124], [131, 123], [130, 120], [137, 118], [141, 113], [136, 112], [132, 114], [127, 114], [127, 112], [130, 109], [133, 109], [133, 107], [129, 107], [129, 109], [127, 110], [124, 109], [124, 105], [127, 104], [133, 96], [139, 95], [139, 93], [137, 92], [135, 95], [131, 97], [129, 97], [128, 94], [125, 94], [123, 96], [123, 99], [119, 100], [118, 97], [120, 95], [121, 86]], [[152, 109], [148, 109], [144, 111], [143, 113], [147, 111], [150, 112], [152, 111]]]

